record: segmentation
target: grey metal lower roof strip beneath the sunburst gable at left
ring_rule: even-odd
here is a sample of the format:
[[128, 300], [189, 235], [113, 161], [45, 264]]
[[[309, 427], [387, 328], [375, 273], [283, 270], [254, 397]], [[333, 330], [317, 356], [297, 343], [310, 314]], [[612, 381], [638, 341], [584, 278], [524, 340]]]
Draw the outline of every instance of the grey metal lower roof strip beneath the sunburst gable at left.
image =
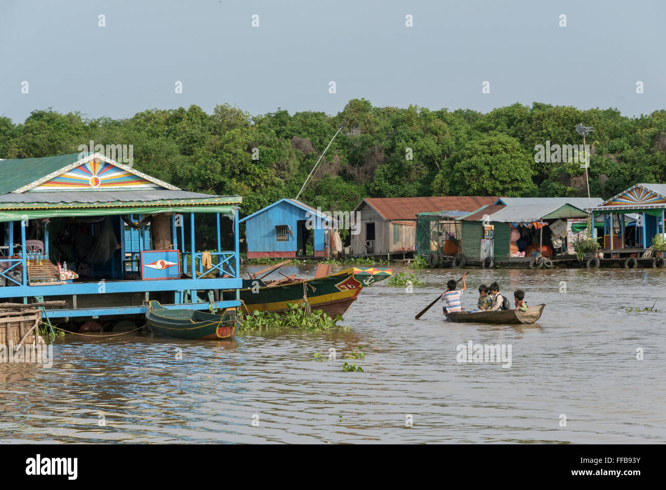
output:
[[141, 191], [91, 190], [7, 193], [0, 203], [104, 203], [111, 201], [157, 201], [158, 199], [204, 199], [220, 197], [188, 191], [145, 189]]

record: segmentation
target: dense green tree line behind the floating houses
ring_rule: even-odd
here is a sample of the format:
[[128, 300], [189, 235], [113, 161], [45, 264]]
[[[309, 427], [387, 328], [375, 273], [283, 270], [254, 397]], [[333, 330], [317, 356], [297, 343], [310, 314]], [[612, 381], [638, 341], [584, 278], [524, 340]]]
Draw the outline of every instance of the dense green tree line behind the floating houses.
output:
[[547, 141], [582, 144], [577, 123], [594, 127], [587, 136], [592, 195], [666, 181], [666, 111], [625, 117], [617, 109], [544, 103], [480, 113], [352, 99], [336, 115], [250, 115], [228, 104], [209, 114], [192, 105], [129, 119], [36, 110], [23, 123], [0, 117], [0, 158], [77, 153], [90, 140], [133, 145], [136, 169], [190, 191], [242, 195], [247, 215], [296, 197], [342, 121], [344, 130], [300, 197], [328, 211], [351, 211], [364, 197], [586, 195], [579, 162], [535, 158]]

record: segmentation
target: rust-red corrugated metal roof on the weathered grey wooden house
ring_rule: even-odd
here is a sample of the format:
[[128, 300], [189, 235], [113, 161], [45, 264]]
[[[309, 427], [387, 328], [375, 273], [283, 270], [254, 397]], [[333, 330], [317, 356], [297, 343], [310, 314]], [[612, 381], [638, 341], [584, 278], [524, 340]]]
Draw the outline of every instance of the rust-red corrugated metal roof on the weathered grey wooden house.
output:
[[456, 209], [469, 212], [475, 211], [483, 205], [493, 204], [497, 200], [497, 197], [485, 196], [368, 197], [368, 199], [363, 199], [354, 211], [357, 211], [366, 203], [386, 220], [415, 220], [418, 213], [440, 209]]

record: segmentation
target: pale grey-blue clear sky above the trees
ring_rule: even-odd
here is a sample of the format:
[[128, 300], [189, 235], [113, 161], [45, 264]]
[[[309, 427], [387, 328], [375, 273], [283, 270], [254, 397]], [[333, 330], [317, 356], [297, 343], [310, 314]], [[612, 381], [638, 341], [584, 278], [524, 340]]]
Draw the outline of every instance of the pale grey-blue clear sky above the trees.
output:
[[664, 109], [665, 14], [656, 0], [0, 0], [0, 115], [223, 103], [334, 115], [365, 98], [639, 116]]

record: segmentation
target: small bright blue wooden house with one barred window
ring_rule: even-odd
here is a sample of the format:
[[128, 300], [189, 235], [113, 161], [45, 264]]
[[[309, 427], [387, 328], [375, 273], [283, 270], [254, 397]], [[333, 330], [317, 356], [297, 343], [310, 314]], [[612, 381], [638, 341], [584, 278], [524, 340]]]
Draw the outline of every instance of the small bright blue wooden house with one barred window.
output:
[[328, 257], [335, 220], [296, 199], [280, 199], [240, 220], [248, 259]]

